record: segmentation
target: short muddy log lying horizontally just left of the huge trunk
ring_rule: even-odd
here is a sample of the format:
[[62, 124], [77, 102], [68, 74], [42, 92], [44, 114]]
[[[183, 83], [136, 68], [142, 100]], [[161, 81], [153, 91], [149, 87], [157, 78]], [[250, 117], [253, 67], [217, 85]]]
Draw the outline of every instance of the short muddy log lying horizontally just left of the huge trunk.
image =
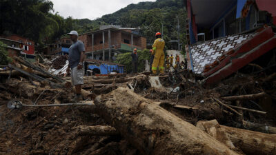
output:
[[117, 132], [117, 130], [114, 127], [101, 125], [80, 125], [75, 127], [75, 130], [75, 133], [79, 136], [112, 136], [119, 134], [119, 132]]

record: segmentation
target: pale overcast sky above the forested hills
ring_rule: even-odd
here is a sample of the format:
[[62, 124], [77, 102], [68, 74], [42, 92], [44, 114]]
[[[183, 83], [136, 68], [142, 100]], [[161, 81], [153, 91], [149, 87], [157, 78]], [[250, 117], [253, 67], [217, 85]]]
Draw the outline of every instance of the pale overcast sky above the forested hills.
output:
[[73, 19], [97, 19], [128, 6], [130, 3], [155, 0], [51, 0], [55, 12]]

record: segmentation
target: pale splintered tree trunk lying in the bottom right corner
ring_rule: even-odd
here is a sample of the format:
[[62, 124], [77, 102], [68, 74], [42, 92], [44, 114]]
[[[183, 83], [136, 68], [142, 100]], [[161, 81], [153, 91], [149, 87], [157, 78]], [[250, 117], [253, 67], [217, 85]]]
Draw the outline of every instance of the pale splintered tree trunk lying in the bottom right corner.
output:
[[238, 147], [245, 154], [276, 154], [276, 134], [227, 127], [219, 125], [217, 120], [199, 121], [197, 127], [232, 149]]

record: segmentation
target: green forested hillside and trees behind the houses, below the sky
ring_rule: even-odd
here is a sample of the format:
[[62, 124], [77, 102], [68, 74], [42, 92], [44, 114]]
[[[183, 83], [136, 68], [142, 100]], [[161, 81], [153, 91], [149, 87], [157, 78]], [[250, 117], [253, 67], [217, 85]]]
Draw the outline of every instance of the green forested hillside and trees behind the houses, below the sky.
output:
[[151, 44], [155, 32], [164, 25], [166, 48], [168, 43], [177, 39], [177, 17], [180, 23], [180, 37], [185, 43], [185, 17], [183, 0], [157, 0], [130, 4], [112, 14], [106, 14], [95, 20], [63, 18], [53, 14], [53, 3], [48, 0], [1, 0], [0, 34], [20, 34], [34, 40], [39, 45], [52, 43], [70, 30], [80, 34], [98, 30], [100, 25], [115, 24], [123, 27], [141, 28], [142, 35]]

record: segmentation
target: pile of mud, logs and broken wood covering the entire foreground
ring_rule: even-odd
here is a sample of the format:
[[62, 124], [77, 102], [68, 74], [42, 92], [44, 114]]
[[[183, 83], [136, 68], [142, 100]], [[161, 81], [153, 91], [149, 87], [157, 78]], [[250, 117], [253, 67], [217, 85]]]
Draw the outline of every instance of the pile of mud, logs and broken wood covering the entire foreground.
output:
[[86, 76], [81, 103], [70, 77], [16, 58], [0, 72], [0, 154], [276, 154], [267, 57], [215, 85], [188, 70]]

